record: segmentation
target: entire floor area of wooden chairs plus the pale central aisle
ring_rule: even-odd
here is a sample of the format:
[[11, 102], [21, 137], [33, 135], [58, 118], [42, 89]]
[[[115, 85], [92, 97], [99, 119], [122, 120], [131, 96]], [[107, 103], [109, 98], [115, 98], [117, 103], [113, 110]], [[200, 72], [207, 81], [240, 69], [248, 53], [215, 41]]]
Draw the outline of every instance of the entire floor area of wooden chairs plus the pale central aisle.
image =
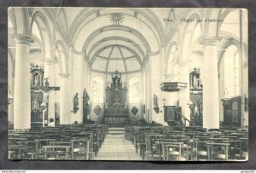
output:
[[237, 128], [104, 124], [9, 130], [9, 159], [245, 161], [248, 131]]

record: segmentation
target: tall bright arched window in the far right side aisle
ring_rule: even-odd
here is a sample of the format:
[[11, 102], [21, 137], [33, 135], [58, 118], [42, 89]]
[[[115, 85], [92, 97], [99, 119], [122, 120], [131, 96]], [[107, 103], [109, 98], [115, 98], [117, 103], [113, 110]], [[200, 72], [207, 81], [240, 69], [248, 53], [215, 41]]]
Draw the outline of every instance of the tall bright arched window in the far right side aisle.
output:
[[229, 95], [240, 95], [240, 60], [239, 51], [234, 44], [230, 44], [224, 53], [224, 88]]

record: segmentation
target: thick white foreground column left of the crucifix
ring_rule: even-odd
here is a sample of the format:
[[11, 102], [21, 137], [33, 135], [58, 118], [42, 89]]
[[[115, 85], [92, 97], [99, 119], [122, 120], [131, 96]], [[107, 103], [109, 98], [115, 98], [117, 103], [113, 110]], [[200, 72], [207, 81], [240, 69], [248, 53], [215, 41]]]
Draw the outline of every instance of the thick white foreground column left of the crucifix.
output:
[[31, 128], [30, 43], [28, 36], [15, 36], [14, 129]]

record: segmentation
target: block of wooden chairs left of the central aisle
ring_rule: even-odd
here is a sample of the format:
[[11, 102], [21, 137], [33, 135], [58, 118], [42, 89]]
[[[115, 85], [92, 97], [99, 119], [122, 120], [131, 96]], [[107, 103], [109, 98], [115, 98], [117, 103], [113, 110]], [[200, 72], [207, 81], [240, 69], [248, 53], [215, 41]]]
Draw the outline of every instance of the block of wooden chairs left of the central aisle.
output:
[[9, 130], [9, 159], [90, 160], [96, 157], [107, 133], [106, 124]]

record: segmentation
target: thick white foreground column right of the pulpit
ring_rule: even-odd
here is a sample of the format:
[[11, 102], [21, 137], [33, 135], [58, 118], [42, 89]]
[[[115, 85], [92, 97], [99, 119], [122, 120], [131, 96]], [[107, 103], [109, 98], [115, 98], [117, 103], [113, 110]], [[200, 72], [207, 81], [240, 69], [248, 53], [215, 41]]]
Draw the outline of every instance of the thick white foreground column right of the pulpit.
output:
[[219, 129], [217, 43], [216, 37], [203, 41], [203, 127], [207, 129]]

